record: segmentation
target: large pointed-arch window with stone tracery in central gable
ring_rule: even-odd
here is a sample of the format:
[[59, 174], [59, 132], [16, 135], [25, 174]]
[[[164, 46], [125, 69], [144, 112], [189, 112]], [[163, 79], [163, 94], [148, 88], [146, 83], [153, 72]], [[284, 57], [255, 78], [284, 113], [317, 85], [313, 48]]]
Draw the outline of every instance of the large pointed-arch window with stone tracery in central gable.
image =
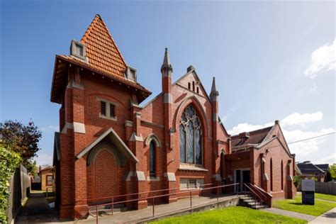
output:
[[179, 161], [202, 164], [202, 128], [193, 106], [186, 107], [179, 125]]

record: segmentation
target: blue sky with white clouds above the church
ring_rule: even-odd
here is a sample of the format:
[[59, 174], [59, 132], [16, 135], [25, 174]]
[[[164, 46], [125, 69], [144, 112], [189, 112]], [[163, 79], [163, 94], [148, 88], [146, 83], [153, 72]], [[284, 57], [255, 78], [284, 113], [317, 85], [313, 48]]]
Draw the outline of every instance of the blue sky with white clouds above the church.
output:
[[[69, 54], [96, 13], [138, 82], [161, 91], [164, 47], [173, 79], [193, 65], [216, 77], [230, 133], [281, 121], [287, 142], [335, 132], [335, 2], [1, 1], [1, 121], [43, 130], [39, 164], [52, 162], [60, 105], [50, 102], [56, 54]], [[297, 161], [336, 162], [335, 134], [296, 144]]]

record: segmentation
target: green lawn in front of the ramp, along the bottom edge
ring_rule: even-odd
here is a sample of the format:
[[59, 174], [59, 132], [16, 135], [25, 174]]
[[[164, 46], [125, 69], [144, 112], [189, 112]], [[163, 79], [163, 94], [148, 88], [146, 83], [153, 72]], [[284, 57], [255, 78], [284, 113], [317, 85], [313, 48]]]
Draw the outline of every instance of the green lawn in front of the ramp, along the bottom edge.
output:
[[307, 223], [306, 220], [276, 215], [240, 206], [203, 211], [179, 217], [165, 218], [153, 223]]

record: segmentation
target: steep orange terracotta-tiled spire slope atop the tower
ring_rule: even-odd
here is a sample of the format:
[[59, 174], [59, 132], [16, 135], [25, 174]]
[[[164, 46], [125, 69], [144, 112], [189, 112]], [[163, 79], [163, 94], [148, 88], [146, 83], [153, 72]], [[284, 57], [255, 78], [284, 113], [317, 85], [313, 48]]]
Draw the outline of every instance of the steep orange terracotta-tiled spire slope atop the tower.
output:
[[98, 14], [81, 40], [86, 45], [89, 66], [113, 76], [124, 77], [127, 65], [106, 24]]

